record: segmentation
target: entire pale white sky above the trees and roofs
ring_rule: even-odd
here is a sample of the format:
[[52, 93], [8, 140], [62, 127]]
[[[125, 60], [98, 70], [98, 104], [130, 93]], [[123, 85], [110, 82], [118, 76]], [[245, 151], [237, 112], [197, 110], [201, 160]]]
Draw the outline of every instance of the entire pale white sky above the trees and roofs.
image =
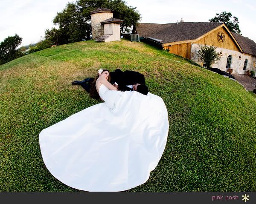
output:
[[[209, 22], [222, 11], [239, 19], [241, 34], [256, 42], [254, 0], [125, 0], [137, 7], [141, 23]], [[0, 42], [15, 33], [20, 46], [36, 43], [54, 27], [53, 18], [73, 0], [0, 0]]]

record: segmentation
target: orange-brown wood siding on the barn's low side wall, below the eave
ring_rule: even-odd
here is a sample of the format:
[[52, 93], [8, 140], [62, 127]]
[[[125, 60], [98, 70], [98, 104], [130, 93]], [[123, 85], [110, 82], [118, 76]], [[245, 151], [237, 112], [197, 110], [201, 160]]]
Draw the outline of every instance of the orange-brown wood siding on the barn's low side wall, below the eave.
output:
[[169, 52], [175, 55], [180, 55], [190, 59], [191, 43], [183, 43], [172, 46], [164, 46], [164, 49], [169, 49]]

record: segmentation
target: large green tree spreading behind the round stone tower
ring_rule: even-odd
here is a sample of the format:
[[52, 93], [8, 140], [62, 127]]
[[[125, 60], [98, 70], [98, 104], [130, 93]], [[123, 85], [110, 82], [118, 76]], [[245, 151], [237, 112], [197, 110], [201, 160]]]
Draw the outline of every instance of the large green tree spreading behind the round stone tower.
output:
[[68, 3], [63, 11], [57, 13], [53, 23], [59, 26], [58, 32], [56, 29], [48, 29], [45, 38], [53, 40], [55, 44], [89, 40], [90, 11], [99, 7], [113, 10], [114, 18], [124, 20], [121, 25], [122, 32], [126, 32], [128, 27], [136, 25], [140, 20], [136, 7], [127, 6], [123, 0], [77, 0], [76, 3]]

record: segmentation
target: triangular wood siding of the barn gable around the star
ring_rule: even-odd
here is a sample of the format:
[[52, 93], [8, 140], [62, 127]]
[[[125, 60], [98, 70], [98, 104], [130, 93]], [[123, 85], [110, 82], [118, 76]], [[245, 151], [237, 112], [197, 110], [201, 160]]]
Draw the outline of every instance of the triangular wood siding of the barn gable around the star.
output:
[[[223, 32], [225, 35], [225, 40], [223, 43], [218, 42], [218, 37], [217, 37], [218, 32]], [[220, 48], [225, 48], [225, 49], [230, 49], [230, 50], [240, 52], [238, 46], [236, 45], [236, 43], [234, 42], [230, 34], [226, 31], [226, 29], [224, 29], [224, 27], [221, 27], [215, 30], [214, 32], [208, 34], [207, 36], [193, 43], [201, 44], [201, 45], [206, 44], [209, 46], [213, 45], [215, 47], [220, 47]]]

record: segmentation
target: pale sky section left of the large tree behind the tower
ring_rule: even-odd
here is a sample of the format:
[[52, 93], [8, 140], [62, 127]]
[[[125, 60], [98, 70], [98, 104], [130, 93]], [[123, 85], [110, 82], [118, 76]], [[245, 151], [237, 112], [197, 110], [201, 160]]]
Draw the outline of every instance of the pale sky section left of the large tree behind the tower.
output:
[[52, 28], [53, 18], [68, 0], [0, 0], [0, 41], [17, 33], [22, 45], [38, 42], [46, 29]]

